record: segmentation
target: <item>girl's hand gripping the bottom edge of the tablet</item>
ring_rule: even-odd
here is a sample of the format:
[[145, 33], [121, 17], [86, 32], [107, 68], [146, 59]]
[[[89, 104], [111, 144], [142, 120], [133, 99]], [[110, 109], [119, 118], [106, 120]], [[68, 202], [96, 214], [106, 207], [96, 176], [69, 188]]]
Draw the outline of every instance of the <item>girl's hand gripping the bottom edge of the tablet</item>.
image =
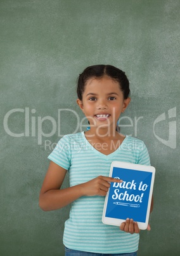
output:
[[[131, 220], [129, 218], [127, 218], [125, 220], [125, 222], [122, 222], [122, 224], [120, 225], [120, 230], [127, 232], [127, 233], [131, 233], [131, 234], [140, 232], [138, 223], [134, 222], [134, 220], [132, 220], [132, 218], [131, 218]], [[151, 227], [150, 227], [150, 224], [148, 224], [147, 231], [150, 231], [150, 230], [151, 230]]]

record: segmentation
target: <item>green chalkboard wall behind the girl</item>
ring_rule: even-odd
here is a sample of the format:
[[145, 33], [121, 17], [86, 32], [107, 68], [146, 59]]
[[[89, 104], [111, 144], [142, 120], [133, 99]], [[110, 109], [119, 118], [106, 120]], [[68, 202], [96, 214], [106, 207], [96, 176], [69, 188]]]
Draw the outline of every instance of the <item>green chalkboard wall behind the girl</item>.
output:
[[42, 211], [39, 190], [55, 143], [80, 130], [76, 80], [93, 64], [127, 73], [121, 129], [157, 169], [138, 255], [179, 255], [179, 13], [179, 0], [0, 1], [0, 255], [64, 255], [70, 208]]

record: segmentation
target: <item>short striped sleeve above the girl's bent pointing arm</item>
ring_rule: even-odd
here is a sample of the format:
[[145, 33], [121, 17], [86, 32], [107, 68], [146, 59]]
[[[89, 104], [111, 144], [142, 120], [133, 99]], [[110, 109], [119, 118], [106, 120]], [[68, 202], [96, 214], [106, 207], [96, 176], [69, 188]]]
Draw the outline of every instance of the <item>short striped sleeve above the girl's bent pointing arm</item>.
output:
[[58, 141], [53, 152], [50, 153], [48, 159], [68, 170], [71, 164], [71, 147], [67, 136]]

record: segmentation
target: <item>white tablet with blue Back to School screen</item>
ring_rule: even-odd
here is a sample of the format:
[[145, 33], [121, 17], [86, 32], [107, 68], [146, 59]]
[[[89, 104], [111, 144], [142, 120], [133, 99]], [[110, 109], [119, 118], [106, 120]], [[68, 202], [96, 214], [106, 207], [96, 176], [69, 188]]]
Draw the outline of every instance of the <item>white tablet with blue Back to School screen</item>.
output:
[[102, 221], [120, 226], [126, 218], [138, 222], [139, 229], [147, 229], [155, 167], [114, 161], [110, 177], [123, 180], [112, 182], [105, 197]]

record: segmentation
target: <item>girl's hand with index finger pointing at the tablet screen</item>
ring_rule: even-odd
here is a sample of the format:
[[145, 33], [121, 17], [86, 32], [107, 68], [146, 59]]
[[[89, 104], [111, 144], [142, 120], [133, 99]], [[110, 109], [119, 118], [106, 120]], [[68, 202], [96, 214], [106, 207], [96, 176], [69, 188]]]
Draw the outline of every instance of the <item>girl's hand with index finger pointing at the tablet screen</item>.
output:
[[106, 176], [98, 176], [93, 180], [82, 183], [80, 187], [83, 190], [82, 193], [84, 194], [84, 196], [106, 196], [106, 193], [110, 188], [110, 182], [121, 183], [122, 180]]

